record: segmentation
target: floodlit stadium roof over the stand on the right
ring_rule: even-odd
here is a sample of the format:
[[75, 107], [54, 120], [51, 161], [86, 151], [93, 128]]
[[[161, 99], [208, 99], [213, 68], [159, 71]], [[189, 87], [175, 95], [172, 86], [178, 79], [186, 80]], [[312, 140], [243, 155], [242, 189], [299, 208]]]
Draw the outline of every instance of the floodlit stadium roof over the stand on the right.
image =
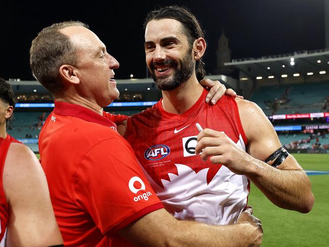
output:
[[225, 65], [240, 70], [242, 72], [240, 80], [246, 79], [246, 77], [254, 80], [260, 77], [281, 78], [298, 76], [297, 74], [301, 76], [311, 75], [311, 73], [325, 74], [329, 72], [329, 49], [298, 51], [260, 58], [234, 59]]

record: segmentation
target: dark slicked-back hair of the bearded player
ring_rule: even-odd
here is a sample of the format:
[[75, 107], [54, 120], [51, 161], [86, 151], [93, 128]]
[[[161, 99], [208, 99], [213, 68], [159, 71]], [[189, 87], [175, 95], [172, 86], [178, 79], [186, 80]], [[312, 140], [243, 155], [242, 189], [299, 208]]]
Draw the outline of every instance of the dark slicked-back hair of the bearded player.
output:
[[[187, 37], [190, 48], [195, 39], [204, 38], [204, 32], [196, 17], [186, 8], [177, 5], [155, 8], [149, 12], [144, 22], [144, 31], [151, 20], [175, 19], [182, 23], [183, 32]], [[195, 62], [196, 78], [200, 81], [205, 76], [204, 63], [201, 59]]]

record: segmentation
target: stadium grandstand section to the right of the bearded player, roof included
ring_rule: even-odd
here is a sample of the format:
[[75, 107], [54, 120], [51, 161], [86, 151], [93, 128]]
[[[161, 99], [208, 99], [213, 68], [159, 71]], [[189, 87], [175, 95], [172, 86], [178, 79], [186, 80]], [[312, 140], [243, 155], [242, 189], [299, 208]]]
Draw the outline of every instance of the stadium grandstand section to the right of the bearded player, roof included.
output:
[[237, 92], [257, 103], [290, 152], [328, 153], [329, 49], [225, 63], [239, 70]]

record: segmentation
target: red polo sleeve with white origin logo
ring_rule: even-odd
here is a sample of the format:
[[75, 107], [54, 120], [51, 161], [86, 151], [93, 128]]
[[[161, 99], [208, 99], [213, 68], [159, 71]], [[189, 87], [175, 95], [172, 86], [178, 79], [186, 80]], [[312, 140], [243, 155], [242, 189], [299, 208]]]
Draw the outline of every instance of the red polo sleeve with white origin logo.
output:
[[163, 208], [123, 138], [94, 145], [76, 172], [74, 195], [102, 233], [113, 233]]

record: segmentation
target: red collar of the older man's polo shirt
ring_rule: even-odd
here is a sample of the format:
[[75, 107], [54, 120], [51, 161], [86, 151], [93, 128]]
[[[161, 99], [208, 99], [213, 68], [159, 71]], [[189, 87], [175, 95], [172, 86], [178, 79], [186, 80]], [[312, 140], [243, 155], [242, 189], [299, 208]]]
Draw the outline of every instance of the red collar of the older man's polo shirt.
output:
[[107, 127], [114, 127], [116, 129], [116, 125], [114, 122], [103, 117], [102, 115], [97, 114], [96, 112], [93, 112], [90, 109], [87, 109], [86, 107], [76, 104], [66, 103], [66, 102], [59, 102], [56, 100], [54, 103], [55, 103], [55, 108], [54, 108], [55, 114], [78, 117], [88, 122], [95, 122], [95, 123], [99, 123], [100, 125]]

